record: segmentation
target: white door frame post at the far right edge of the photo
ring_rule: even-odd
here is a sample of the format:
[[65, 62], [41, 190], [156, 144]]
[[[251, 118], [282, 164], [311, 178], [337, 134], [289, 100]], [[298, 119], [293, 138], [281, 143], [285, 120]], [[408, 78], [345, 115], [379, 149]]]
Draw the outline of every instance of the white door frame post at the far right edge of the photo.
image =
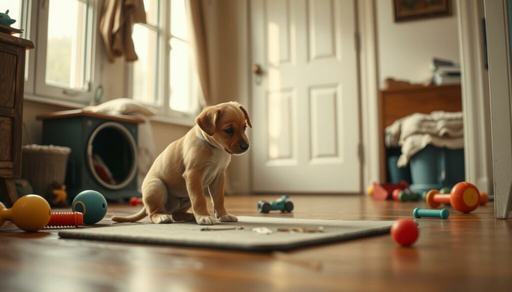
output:
[[505, 0], [484, 1], [496, 218], [508, 218], [512, 207], [512, 76], [506, 4]]

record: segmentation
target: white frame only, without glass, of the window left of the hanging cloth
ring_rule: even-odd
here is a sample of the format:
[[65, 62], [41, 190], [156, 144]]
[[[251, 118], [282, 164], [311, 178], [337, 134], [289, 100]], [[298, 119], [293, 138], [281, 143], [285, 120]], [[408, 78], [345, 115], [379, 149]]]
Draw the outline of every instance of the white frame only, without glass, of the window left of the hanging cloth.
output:
[[[30, 36], [36, 40], [35, 52], [29, 57], [29, 66], [35, 70], [30, 70], [29, 78], [25, 86], [26, 92], [33, 94], [36, 98], [44, 98], [50, 100], [61, 100], [66, 102], [74, 102], [79, 104], [88, 104], [93, 99], [93, 89], [99, 83], [99, 65], [95, 65], [98, 56], [98, 37], [97, 33], [97, 14], [98, 1], [95, 0], [73, 0], [85, 3], [86, 11], [86, 56], [85, 56], [85, 80], [83, 89], [73, 89], [65, 86], [58, 86], [46, 83], [46, 57], [47, 57], [47, 41], [48, 41], [48, 15], [50, 2], [33, 1], [31, 11], [27, 15], [32, 14]], [[28, 5], [29, 6], [29, 5]], [[36, 12], [36, 13], [34, 13]], [[29, 67], [30, 68], [30, 67]]]

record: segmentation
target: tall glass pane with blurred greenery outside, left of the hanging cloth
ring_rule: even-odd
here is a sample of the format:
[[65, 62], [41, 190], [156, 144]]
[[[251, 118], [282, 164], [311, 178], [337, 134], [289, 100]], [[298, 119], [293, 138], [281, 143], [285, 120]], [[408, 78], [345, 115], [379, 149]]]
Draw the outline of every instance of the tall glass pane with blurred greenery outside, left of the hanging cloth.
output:
[[51, 0], [48, 9], [46, 83], [83, 89], [87, 4], [77, 0]]

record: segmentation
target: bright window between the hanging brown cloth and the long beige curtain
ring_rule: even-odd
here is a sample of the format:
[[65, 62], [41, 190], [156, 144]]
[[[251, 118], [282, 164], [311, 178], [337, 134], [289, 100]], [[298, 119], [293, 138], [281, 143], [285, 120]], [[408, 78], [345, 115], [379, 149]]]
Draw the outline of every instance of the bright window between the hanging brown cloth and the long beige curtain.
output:
[[132, 65], [132, 98], [163, 116], [191, 116], [199, 107], [199, 83], [192, 70], [184, 0], [144, 0], [146, 24], [132, 37], [139, 59]]

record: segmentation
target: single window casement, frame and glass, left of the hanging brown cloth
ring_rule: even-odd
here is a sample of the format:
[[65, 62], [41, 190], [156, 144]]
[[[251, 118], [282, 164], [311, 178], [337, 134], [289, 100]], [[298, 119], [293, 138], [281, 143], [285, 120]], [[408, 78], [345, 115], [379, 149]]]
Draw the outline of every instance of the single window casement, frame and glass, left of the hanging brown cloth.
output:
[[35, 94], [92, 98], [93, 0], [38, 2]]

